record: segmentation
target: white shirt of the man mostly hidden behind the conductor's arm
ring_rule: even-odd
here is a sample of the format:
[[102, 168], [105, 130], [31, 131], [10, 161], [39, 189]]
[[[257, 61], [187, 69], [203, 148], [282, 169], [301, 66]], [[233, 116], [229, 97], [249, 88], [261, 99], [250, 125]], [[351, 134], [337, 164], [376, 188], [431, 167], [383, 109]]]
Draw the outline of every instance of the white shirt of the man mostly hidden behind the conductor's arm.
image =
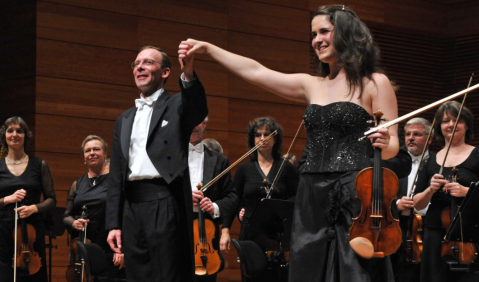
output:
[[[190, 143], [188, 150], [188, 168], [190, 170], [190, 184], [191, 191], [198, 191], [198, 183], [203, 183], [203, 168], [205, 163], [205, 151], [203, 142], [196, 144]], [[213, 218], [220, 217], [220, 209], [216, 203], [213, 203], [215, 208], [213, 212]], [[193, 206], [193, 212], [198, 212], [198, 206]]]

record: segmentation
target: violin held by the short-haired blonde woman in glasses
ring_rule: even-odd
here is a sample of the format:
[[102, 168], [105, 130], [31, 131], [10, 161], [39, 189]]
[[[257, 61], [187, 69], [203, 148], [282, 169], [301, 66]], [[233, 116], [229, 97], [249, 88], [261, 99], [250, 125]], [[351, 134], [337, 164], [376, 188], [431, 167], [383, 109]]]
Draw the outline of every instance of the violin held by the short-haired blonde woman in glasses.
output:
[[[87, 219], [87, 208], [83, 206], [82, 213], [80, 216], [81, 219]], [[68, 282], [86, 282], [86, 281], [93, 281], [94, 277], [87, 277], [85, 271], [85, 262], [80, 255], [80, 250], [78, 249], [78, 242], [83, 242], [83, 244], [91, 243], [89, 239], [86, 238], [86, 229], [87, 224], [83, 224], [83, 228], [80, 231], [80, 234], [77, 238], [74, 238], [70, 242], [70, 256], [69, 256], [69, 264], [67, 267], [67, 271], [65, 273], [65, 277]]]

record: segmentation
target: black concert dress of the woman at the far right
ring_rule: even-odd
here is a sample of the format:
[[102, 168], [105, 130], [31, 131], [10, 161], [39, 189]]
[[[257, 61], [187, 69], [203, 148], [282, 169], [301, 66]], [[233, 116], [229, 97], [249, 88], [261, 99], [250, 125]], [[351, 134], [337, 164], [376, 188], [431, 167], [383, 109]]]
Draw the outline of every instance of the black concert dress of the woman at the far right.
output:
[[[416, 190], [414, 194], [421, 193], [429, 187], [429, 183], [434, 174], [438, 173], [441, 166], [437, 163], [436, 155], [433, 155], [424, 163], [424, 169], [419, 172]], [[462, 186], [469, 187], [471, 182], [479, 181], [479, 149], [474, 148], [469, 157], [456, 166], [457, 182]], [[452, 167], [444, 167], [442, 175], [450, 177]], [[446, 235], [446, 230], [442, 227], [441, 213], [451, 207], [451, 200], [457, 205], [461, 205], [464, 197], [453, 197], [450, 194], [444, 194], [437, 191], [432, 195], [431, 204], [427, 210], [426, 221], [424, 222], [423, 250], [421, 254], [421, 281], [434, 282], [465, 282], [479, 281], [479, 273], [465, 273], [449, 271], [448, 265], [441, 258], [441, 241]], [[476, 246], [477, 250], [477, 246]]]

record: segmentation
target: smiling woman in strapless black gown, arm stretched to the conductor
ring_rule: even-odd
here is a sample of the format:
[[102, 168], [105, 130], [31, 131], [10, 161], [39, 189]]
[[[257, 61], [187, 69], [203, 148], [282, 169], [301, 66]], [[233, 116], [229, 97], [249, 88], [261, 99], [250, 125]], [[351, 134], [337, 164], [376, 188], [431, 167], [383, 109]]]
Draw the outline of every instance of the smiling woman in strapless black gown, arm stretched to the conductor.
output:
[[370, 135], [372, 142], [358, 138], [376, 109], [384, 118], [397, 118], [396, 95], [379, 69], [370, 31], [354, 11], [320, 7], [311, 34], [319, 77], [283, 74], [194, 39], [181, 42], [178, 56], [208, 54], [248, 82], [308, 104], [303, 117], [308, 154], [295, 201], [289, 281], [393, 281], [389, 258], [360, 258], [349, 246], [348, 232], [360, 212], [354, 179], [370, 166], [372, 147], [382, 149], [384, 160], [399, 149], [397, 126]]

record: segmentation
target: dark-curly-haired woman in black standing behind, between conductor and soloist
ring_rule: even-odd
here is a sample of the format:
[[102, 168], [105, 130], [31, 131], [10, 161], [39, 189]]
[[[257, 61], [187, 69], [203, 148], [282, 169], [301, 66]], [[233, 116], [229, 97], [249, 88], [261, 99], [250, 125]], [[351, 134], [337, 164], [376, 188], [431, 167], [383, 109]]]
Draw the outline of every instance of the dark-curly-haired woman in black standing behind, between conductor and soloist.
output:
[[[273, 139], [264, 143], [250, 155], [251, 161], [245, 162], [238, 167], [234, 177], [234, 183], [240, 199], [239, 220], [241, 221], [240, 238], [249, 224], [253, 214], [252, 207], [257, 200], [266, 197], [263, 181], [272, 184], [283, 159], [281, 150], [283, 148], [283, 128], [271, 117], [261, 117], [249, 122], [247, 141], [251, 149], [271, 132], [277, 130], [278, 134]], [[296, 195], [298, 187], [298, 176], [293, 165], [286, 161], [285, 168], [281, 174], [277, 186], [271, 198], [287, 200]], [[256, 278], [243, 277], [243, 281], [280, 281], [278, 273], [265, 273]]]

